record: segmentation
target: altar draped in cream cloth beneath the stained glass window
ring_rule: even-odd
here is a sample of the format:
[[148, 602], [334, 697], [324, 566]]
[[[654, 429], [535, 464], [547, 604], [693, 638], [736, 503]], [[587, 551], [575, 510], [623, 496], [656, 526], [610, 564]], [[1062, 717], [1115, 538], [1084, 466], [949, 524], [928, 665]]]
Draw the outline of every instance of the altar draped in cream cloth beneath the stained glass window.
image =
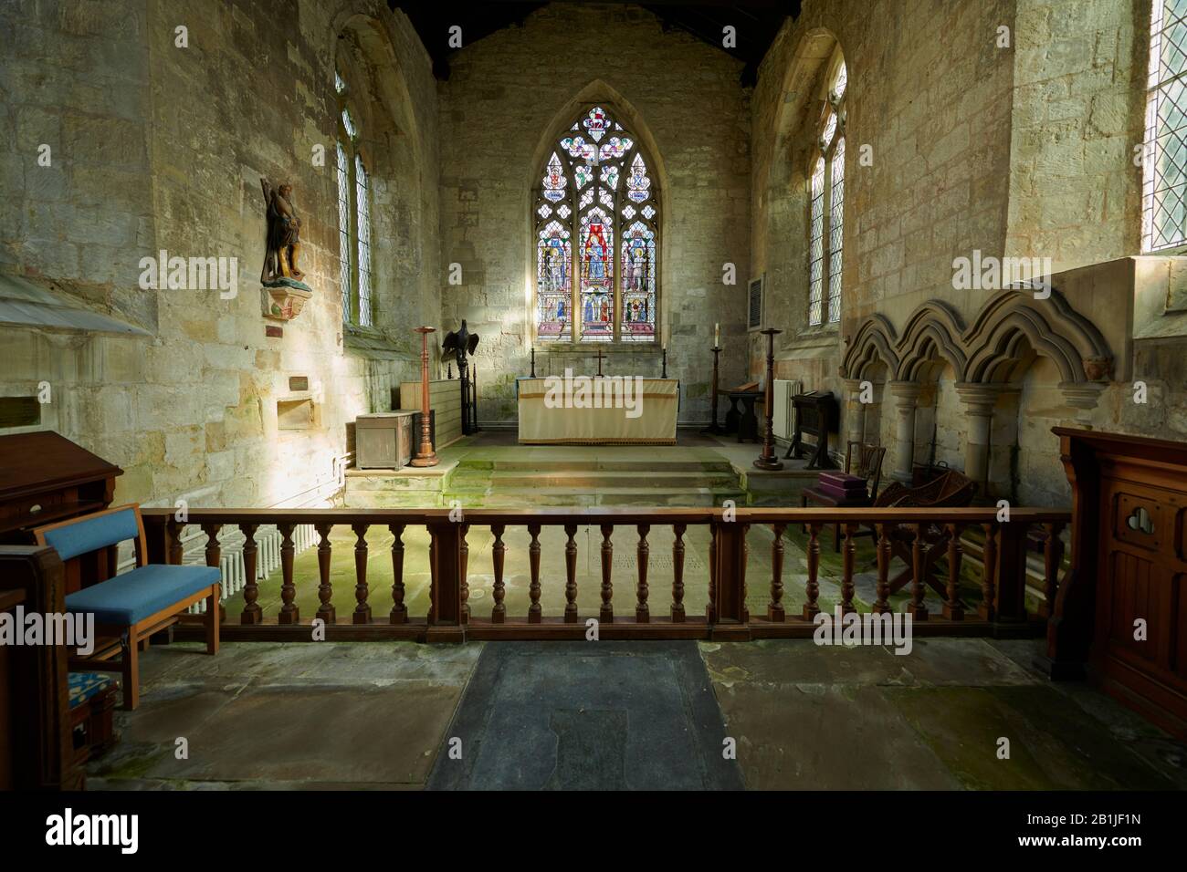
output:
[[521, 377], [515, 381], [521, 445], [675, 445], [677, 378]]

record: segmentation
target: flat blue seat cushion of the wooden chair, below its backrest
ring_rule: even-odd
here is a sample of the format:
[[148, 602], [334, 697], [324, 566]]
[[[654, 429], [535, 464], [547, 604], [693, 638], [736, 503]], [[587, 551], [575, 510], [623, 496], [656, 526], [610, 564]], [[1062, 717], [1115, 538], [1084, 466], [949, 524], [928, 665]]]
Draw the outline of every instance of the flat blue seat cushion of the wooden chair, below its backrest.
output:
[[100, 624], [134, 624], [220, 580], [212, 566], [152, 564], [66, 597], [66, 611], [91, 612]]

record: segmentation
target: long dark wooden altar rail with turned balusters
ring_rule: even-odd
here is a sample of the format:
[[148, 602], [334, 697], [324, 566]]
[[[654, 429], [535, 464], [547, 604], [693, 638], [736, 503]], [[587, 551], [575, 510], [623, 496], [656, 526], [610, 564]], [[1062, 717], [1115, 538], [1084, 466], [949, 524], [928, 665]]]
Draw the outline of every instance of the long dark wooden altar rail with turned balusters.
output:
[[[813, 617], [819, 611], [820, 530], [840, 523], [846, 532], [872, 528], [877, 543], [877, 586], [875, 612], [890, 611], [890, 560], [893, 553], [909, 558], [914, 578], [910, 580], [910, 611], [918, 635], [959, 636], [1033, 636], [1041, 635], [1043, 616], [1055, 602], [1059, 587], [1059, 533], [1071, 520], [1067, 511], [1014, 508], [1010, 521], [999, 523], [997, 509], [732, 509], [732, 520], [724, 509], [466, 509], [459, 521], [450, 520], [447, 509], [191, 509], [189, 524], [199, 526], [209, 536], [205, 560], [218, 566], [220, 532], [235, 526], [242, 532], [243, 562], [247, 585], [245, 605], [240, 615], [227, 615], [222, 634], [228, 639], [298, 641], [312, 637], [311, 624], [316, 618], [325, 622], [328, 639], [406, 638], [418, 641], [457, 642], [465, 638], [557, 638], [578, 639], [586, 635], [586, 620], [597, 618], [599, 638], [715, 638], [749, 639], [769, 637], [810, 637], [814, 631]], [[186, 526], [174, 520], [169, 509], [145, 509], [145, 529], [152, 562], [182, 561], [180, 534]], [[281, 604], [275, 615], [266, 616], [258, 602], [259, 586], [255, 573], [256, 547], [254, 534], [262, 524], [275, 524], [281, 543]], [[318, 599], [317, 612], [301, 616], [294, 603], [292, 543], [298, 524], [312, 524], [318, 532]], [[768, 560], [758, 561], [749, 553], [747, 532], [750, 527], [769, 526], [774, 539]], [[806, 603], [798, 613], [785, 609], [783, 534], [792, 524], [804, 524], [808, 530]], [[1033, 524], [1046, 532], [1046, 578], [1041, 615], [1026, 611], [1027, 533]], [[601, 607], [596, 615], [582, 615], [577, 606], [577, 556], [575, 541], [578, 528], [594, 527], [601, 532]], [[353, 607], [339, 613], [334, 604], [330, 583], [332, 555], [330, 532], [349, 527], [356, 537], [355, 587]], [[488, 615], [471, 611], [468, 585], [469, 547], [466, 535], [472, 528], [489, 528], [494, 536], [491, 569], [494, 573], [494, 604]], [[508, 527], [526, 528], [531, 586], [526, 615], [507, 613], [503, 603], [506, 586], [503, 564]], [[541, 579], [539, 541], [540, 530], [558, 527], [566, 534], [565, 543], [565, 607], [559, 615], [544, 615], [540, 592]], [[648, 572], [650, 547], [647, 537], [660, 527], [671, 527], [672, 546], [671, 597], [659, 604], [652, 587], [656, 579]], [[688, 615], [684, 597], [684, 535], [690, 527], [709, 527], [709, 604], [705, 615]], [[367, 581], [367, 533], [373, 528], [391, 530], [393, 585], [383, 592], [382, 605], [373, 602]], [[430, 534], [430, 606], [425, 616], [408, 615], [405, 605], [402, 536], [408, 528], [425, 528]], [[960, 602], [951, 579], [959, 578], [963, 548], [960, 536], [977, 530], [985, 536], [982, 553], [980, 587], [983, 602], [969, 612]], [[635, 552], [635, 572], [629, 604], [615, 598], [614, 550], [631, 548]], [[846, 537], [843, 546], [843, 577], [840, 605], [853, 610], [853, 574], [856, 540]], [[928, 613], [925, 604], [925, 581], [933, 569], [945, 569], [945, 586], [940, 613]], [[750, 615], [747, 607], [747, 572], [750, 578], [763, 573], [769, 587], [768, 605], [762, 616]], [[769, 573], [769, 574], [767, 574]], [[556, 581], [560, 584], [560, 580]]]

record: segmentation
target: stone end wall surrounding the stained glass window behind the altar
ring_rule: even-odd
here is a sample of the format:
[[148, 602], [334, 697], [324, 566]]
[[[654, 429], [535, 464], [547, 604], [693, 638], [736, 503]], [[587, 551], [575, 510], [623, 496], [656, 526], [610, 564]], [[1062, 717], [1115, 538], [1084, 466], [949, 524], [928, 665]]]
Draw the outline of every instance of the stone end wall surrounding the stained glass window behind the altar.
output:
[[[442, 34], [444, 39], [446, 34]], [[749, 94], [742, 64], [693, 37], [662, 30], [634, 6], [554, 4], [464, 46], [440, 85], [443, 322], [462, 318], [478, 345], [483, 424], [515, 420], [514, 378], [527, 375], [531, 344], [531, 193], [545, 142], [605, 101], [648, 142], [661, 187], [660, 333], [668, 374], [683, 382], [681, 420], [707, 421], [713, 324], [722, 325], [722, 383], [744, 361], [749, 276]], [[732, 262], [737, 285], [722, 284]], [[612, 355], [605, 373], [659, 375], [659, 348]], [[537, 373], [596, 371], [590, 355], [550, 355]]]

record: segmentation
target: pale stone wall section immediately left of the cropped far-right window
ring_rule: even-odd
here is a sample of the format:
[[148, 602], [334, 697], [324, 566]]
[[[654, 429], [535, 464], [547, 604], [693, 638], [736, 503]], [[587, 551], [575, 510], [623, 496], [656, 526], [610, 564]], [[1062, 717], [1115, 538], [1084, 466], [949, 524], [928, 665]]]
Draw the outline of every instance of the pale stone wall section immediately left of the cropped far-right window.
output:
[[1137, 254], [1150, 4], [1017, 0], [1007, 253]]

